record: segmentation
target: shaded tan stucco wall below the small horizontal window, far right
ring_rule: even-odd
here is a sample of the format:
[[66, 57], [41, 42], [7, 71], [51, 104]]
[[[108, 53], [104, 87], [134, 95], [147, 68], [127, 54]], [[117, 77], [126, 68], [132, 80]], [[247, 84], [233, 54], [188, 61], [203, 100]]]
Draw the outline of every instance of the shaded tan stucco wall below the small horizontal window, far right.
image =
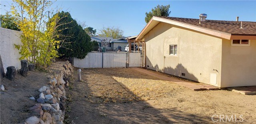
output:
[[250, 46], [232, 46], [222, 42], [221, 87], [256, 86], [256, 40]]

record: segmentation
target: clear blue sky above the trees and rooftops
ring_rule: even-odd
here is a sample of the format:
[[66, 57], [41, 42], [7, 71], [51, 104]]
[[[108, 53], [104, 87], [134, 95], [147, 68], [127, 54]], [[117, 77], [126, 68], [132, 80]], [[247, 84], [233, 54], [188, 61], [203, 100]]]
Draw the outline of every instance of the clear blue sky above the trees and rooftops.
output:
[[[10, 11], [10, 0], [1, 0], [0, 13]], [[86, 25], [97, 30], [108, 26], [118, 26], [124, 36], [138, 35], [146, 26], [145, 13], [157, 5], [170, 4], [170, 16], [180, 18], [198, 18], [199, 14], [207, 14], [207, 20], [229, 20], [256, 22], [256, 0], [250, 1], [206, 1], [206, 0], [129, 0], [129, 1], [92, 1], [92, 0], [57, 0], [53, 6], [62, 7], [70, 12], [72, 18], [86, 21]]]

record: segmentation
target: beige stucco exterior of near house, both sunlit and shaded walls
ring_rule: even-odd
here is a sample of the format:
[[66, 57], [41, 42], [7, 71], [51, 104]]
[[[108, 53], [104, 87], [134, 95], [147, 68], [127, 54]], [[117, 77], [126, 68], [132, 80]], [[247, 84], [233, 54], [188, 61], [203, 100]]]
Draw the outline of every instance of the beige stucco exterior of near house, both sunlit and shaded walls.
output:
[[[149, 31], [144, 40], [149, 69], [206, 84], [210, 84], [210, 75], [216, 74], [216, 82], [212, 77], [210, 85], [217, 87], [256, 85], [255, 40], [247, 47], [231, 46], [231, 40], [164, 22]], [[177, 45], [177, 55], [170, 55], [170, 45]]]

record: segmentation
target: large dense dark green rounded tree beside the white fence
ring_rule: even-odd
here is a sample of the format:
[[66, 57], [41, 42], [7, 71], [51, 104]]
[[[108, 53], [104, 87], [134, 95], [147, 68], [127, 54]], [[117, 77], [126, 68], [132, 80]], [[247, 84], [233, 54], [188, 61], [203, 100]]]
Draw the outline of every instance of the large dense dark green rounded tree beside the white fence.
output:
[[78, 25], [70, 13], [59, 12], [60, 24], [56, 30], [60, 32], [60, 36], [56, 37], [61, 42], [58, 53], [62, 57], [77, 57], [83, 59], [89, 51], [92, 50], [92, 43], [90, 43], [90, 36], [83, 30], [82, 26]]

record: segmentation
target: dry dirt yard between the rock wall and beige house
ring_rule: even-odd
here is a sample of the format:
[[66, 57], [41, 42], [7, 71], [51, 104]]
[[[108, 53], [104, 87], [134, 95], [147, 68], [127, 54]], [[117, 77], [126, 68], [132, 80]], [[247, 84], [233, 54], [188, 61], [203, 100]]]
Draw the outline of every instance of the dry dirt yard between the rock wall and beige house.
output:
[[75, 71], [70, 85], [72, 124], [211, 124], [220, 115], [223, 121], [233, 116], [230, 123], [256, 124], [255, 95], [192, 91], [132, 68], [82, 69], [82, 82]]

